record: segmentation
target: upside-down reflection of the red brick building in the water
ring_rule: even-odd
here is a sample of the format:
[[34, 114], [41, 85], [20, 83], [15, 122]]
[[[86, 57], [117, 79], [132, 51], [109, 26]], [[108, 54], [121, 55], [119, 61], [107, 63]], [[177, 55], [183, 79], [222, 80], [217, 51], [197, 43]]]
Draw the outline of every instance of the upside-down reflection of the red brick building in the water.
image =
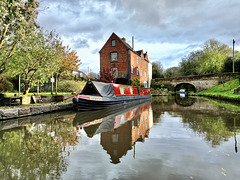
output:
[[[101, 145], [111, 156], [112, 163], [117, 164], [120, 158], [132, 149], [137, 142], [144, 142], [150, 131], [149, 115], [151, 103], [131, 110], [115, 118], [125, 123], [110, 132], [101, 133]], [[131, 119], [130, 119], [131, 118]], [[117, 123], [118, 124], [118, 123]]]

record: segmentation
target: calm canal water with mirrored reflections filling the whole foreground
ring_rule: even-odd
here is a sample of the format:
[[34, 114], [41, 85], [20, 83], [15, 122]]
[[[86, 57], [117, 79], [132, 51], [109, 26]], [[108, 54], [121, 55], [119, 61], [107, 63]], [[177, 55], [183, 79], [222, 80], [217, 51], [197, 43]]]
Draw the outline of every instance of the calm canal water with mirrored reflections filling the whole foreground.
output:
[[239, 180], [238, 111], [157, 97], [0, 121], [0, 179]]

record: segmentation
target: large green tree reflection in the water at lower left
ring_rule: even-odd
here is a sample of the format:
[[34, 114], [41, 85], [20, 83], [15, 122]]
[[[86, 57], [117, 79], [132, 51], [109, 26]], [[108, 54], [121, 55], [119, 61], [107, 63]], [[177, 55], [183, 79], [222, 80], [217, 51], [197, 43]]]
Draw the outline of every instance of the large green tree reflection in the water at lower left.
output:
[[[50, 122], [0, 132], [0, 177], [59, 179], [67, 169], [66, 154], [70, 152], [69, 146], [77, 142], [71, 124], [55, 121], [54, 125]], [[34, 130], [30, 131], [33, 126]]]

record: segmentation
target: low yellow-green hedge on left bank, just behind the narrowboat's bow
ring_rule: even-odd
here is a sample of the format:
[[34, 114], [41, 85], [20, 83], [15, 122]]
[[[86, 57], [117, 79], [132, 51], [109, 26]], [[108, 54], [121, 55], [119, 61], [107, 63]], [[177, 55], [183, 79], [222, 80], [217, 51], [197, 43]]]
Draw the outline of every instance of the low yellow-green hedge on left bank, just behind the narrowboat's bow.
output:
[[63, 80], [58, 83], [58, 90], [63, 92], [81, 92], [85, 81]]

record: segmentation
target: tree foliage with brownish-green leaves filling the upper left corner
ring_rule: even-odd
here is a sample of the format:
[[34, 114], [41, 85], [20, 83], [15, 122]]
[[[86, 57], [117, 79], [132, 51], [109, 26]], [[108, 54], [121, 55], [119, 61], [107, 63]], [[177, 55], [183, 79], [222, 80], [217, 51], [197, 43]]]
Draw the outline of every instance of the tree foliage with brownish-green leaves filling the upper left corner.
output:
[[2, 0], [0, 1], [0, 74], [6, 66], [20, 42], [38, 27], [35, 0]]

